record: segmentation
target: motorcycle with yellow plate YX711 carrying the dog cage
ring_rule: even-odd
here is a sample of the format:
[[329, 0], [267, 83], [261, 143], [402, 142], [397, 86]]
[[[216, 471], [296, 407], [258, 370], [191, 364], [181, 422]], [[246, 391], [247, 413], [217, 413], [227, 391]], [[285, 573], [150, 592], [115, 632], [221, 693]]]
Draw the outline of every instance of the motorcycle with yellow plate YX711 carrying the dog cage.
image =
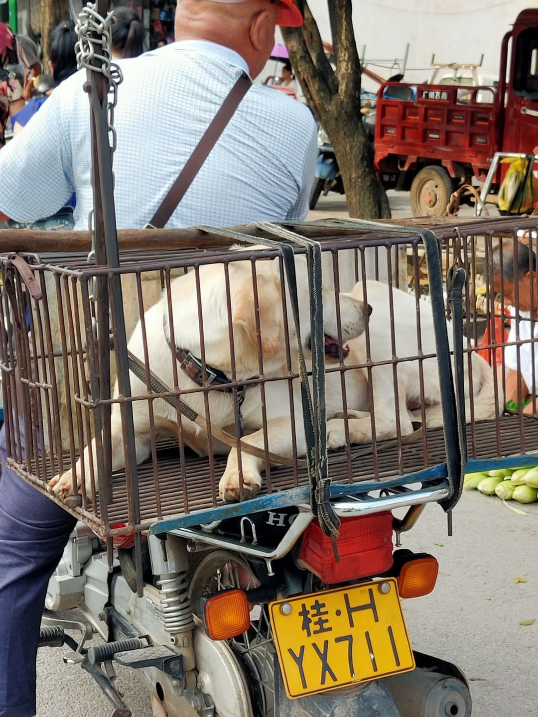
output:
[[[142, 594], [132, 536], [115, 538], [110, 573], [105, 543], [78, 523], [49, 581], [40, 644], [93, 675], [114, 717], [131, 715], [115, 664], [138, 672], [155, 717], [468, 717], [465, 676], [412, 650], [400, 607], [433, 590], [438, 563], [392, 545], [440, 497], [430, 487], [338, 499], [334, 541], [309, 506], [276, 500], [199, 526], [156, 523]], [[75, 607], [85, 622], [54, 616]], [[93, 635], [105, 644], [87, 647]]]

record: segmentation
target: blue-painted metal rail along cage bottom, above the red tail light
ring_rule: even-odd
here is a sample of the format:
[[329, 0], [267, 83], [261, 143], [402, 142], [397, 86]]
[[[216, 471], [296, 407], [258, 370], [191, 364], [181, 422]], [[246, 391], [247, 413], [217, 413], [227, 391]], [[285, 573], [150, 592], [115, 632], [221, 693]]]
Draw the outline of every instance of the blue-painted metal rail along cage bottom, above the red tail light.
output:
[[[340, 498], [342, 495], [359, 495], [360, 493], [369, 493], [370, 490], [395, 488], [400, 485], [409, 485], [410, 483], [427, 483], [430, 480], [447, 478], [447, 476], [446, 464], [440, 463], [417, 473], [392, 478], [392, 480], [375, 480], [371, 483], [353, 483], [351, 485], [349, 483], [333, 483], [331, 485], [331, 498]], [[229, 503], [228, 505], [219, 505], [217, 508], [210, 508], [207, 511], [194, 511], [174, 518], [164, 518], [151, 526], [150, 533], [167, 533], [176, 528], [192, 528], [192, 526], [199, 526], [200, 523], [212, 523], [213, 521], [225, 520], [225, 518], [248, 516], [251, 513], [261, 513], [262, 511], [275, 511], [278, 508], [289, 508], [291, 505], [301, 503], [310, 503], [310, 488], [308, 485], [301, 486], [301, 488], [281, 490], [279, 493], [260, 495], [258, 498], [251, 498], [242, 503]]]

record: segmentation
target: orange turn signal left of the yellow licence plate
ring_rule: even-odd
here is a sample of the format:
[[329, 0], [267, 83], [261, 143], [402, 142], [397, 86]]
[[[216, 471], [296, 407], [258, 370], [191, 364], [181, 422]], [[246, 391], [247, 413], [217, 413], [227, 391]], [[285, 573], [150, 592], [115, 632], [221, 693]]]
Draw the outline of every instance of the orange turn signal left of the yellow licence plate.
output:
[[212, 640], [229, 640], [250, 627], [250, 609], [244, 590], [232, 589], [207, 598], [204, 622]]

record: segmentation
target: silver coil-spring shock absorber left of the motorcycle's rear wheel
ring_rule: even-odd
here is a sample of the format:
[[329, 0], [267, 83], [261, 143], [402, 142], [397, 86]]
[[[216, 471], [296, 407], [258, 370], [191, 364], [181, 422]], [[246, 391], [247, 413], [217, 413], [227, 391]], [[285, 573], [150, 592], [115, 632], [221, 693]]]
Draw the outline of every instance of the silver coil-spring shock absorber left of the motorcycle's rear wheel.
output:
[[170, 641], [183, 656], [184, 670], [194, 670], [194, 617], [189, 599], [189, 562], [184, 538], [167, 533], [148, 537], [151, 570], [161, 594], [159, 613]]

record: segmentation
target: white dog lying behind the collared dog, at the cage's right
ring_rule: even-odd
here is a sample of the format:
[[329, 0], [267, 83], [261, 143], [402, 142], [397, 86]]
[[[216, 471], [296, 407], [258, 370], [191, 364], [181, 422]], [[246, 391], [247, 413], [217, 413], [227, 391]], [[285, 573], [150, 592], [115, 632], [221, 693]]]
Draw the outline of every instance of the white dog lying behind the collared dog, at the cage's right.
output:
[[[371, 361], [376, 364], [391, 361], [393, 356], [392, 330], [395, 340], [395, 355], [400, 359], [418, 356], [417, 313], [415, 297], [403, 291], [392, 289], [392, 318], [390, 309], [390, 288], [376, 281], [367, 282], [367, 300], [373, 315], [369, 322], [369, 348]], [[363, 285], [359, 282], [351, 296], [362, 300]], [[447, 321], [448, 339], [452, 348], [452, 326]], [[420, 302], [420, 336], [424, 355], [437, 353], [433, 331], [433, 313], [429, 303]], [[349, 341], [349, 355], [346, 364], [360, 366], [367, 364], [367, 336], [363, 333]], [[400, 419], [400, 436], [413, 432], [412, 422], [422, 422], [422, 404], [425, 407], [426, 427], [443, 424], [440, 407], [440, 388], [436, 358], [423, 362], [424, 394], [420, 395], [419, 361], [402, 361], [397, 364], [398, 411], [395, 402], [395, 381], [393, 365], [390, 363], [372, 367], [372, 396], [377, 440], [397, 437], [397, 417]], [[471, 353], [472, 386], [469, 381], [468, 358], [464, 356], [466, 415], [470, 415], [471, 394], [474, 420], [483, 421], [496, 416], [493, 371], [487, 361]], [[346, 397], [351, 443], [372, 442], [372, 423], [369, 407], [369, 376], [366, 368], [346, 371]], [[502, 406], [499, 386], [498, 407]], [[346, 445], [345, 419], [334, 418], [327, 425], [327, 442], [336, 449]]]

